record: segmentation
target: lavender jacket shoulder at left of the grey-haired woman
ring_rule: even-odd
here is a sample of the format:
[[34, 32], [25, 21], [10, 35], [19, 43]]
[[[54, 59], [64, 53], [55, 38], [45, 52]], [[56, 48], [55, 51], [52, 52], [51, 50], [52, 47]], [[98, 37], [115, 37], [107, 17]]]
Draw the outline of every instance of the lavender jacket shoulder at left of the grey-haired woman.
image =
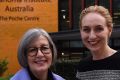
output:
[[31, 80], [27, 69], [19, 70], [10, 80]]

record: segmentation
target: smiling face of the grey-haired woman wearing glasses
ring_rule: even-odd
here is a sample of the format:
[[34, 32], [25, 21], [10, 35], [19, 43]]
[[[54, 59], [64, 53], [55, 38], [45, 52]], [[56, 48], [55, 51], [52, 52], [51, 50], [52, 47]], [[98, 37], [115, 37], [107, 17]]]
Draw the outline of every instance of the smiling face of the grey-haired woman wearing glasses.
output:
[[39, 36], [29, 44], [27, 59], [29, 68], [33, 73], [48, 70], [52, 63], [52, 51], [46, 37]]

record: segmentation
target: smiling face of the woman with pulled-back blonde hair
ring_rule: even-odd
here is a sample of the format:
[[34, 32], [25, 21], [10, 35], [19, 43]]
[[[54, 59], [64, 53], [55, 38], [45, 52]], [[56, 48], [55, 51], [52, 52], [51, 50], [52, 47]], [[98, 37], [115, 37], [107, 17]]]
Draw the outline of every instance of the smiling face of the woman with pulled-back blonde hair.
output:
[[108, 44], [112, 27], [98, 13], [88, 13], [81, 21], [81, 38], [84, 45], [92, 52], [103, 50]]

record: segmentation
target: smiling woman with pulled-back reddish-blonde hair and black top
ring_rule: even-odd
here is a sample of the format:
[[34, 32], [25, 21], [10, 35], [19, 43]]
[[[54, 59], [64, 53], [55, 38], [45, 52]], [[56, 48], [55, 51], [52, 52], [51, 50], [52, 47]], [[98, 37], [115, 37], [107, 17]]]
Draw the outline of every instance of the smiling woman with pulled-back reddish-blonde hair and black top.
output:
[[78, 80], [120, 80], [120, 52], [109, 47], [113, 23], [103, 6], [90, 6], [80, 15], [80, 34], [92, 56], [78, 66]]

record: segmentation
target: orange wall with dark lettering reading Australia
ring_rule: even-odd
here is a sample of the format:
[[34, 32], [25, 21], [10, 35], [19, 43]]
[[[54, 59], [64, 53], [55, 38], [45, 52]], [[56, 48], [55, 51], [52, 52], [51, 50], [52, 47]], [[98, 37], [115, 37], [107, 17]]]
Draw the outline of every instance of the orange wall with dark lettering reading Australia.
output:
[[9, 61], [7, 73], [20, 67], [17, 46], [26, 30], [58, 31], [58, 0], [0, 0], [0, 59]]

